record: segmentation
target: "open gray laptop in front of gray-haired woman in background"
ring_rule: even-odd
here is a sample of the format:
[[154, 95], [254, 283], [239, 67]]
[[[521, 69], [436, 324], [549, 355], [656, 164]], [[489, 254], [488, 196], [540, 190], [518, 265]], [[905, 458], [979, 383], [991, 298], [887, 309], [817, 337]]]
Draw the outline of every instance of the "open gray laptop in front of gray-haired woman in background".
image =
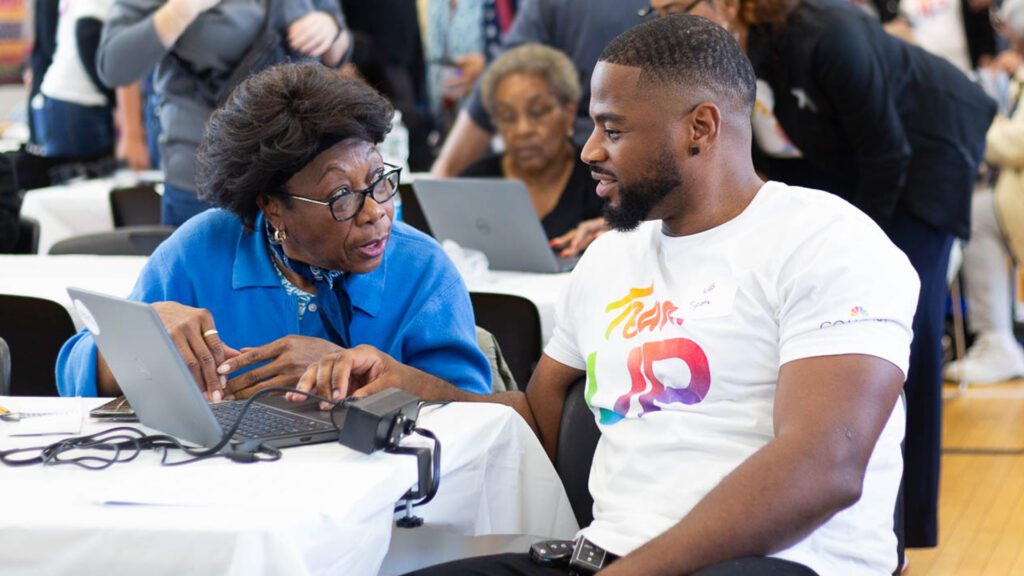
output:
[[434, 238], [480, 250], [492, 270], [567, 272], [579, 260], [551, 249], [519, 180], [417, 178], [413, 189]]

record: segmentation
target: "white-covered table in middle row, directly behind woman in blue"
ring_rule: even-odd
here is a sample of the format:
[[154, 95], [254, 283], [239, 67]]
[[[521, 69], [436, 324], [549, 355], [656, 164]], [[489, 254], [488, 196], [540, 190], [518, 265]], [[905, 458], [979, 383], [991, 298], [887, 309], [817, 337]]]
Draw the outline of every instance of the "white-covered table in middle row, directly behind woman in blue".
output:
[[[62, 303], [75, 326], [82, 328], [66, 288], [74, 286], [115, 296], [127, 296], [135, 285], [145, 256], [0, 255], [0, 294], [48, 298]], [[555, 323], [555, 303], [568, 285], [567, 274], [527, 274], [492, 271], [467, 279], [470, 290], [515, 294], [531, 300], [541, 313], [542, 341], [548, 341]]]

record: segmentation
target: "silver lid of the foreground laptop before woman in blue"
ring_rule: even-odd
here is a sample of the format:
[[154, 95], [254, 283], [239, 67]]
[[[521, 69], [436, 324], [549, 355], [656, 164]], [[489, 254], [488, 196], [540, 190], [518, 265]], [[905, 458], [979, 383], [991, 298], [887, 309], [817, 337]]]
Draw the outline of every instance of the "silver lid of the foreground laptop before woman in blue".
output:
[[153, 307], [78, 288], [68, 294], [140, 422], [200, 446], [220, 441], [220, 424]]

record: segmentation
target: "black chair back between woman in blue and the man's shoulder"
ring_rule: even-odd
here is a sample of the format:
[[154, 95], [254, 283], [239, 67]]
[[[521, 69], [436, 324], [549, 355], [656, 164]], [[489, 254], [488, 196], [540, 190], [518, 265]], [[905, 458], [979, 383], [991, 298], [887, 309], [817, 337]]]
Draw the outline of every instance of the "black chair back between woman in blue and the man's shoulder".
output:
[[476, 325], [495, 335], [519, 389], [541, 360], [541, 313], [534, 302], [511, 294], [470, 292]]

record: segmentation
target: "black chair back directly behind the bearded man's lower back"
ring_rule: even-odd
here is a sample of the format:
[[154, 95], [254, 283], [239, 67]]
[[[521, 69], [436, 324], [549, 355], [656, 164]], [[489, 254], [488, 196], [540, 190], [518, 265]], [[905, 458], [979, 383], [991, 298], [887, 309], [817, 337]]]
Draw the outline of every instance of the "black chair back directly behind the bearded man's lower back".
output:
[[584, 395], [587, 378], [580, 378], [569, 387], [562, 406], [562, 422], [558, 428], [558, 446], [555, 448], [555, 471], [562, 479], [565, 495], [572, 506], [572, 513], [580, 528], [594, 521], [594, 498], [590, 495], [590, 466], [594, 450], [601, 438], [601, 430], [594, 420], [594, 413], [587, 407]]

